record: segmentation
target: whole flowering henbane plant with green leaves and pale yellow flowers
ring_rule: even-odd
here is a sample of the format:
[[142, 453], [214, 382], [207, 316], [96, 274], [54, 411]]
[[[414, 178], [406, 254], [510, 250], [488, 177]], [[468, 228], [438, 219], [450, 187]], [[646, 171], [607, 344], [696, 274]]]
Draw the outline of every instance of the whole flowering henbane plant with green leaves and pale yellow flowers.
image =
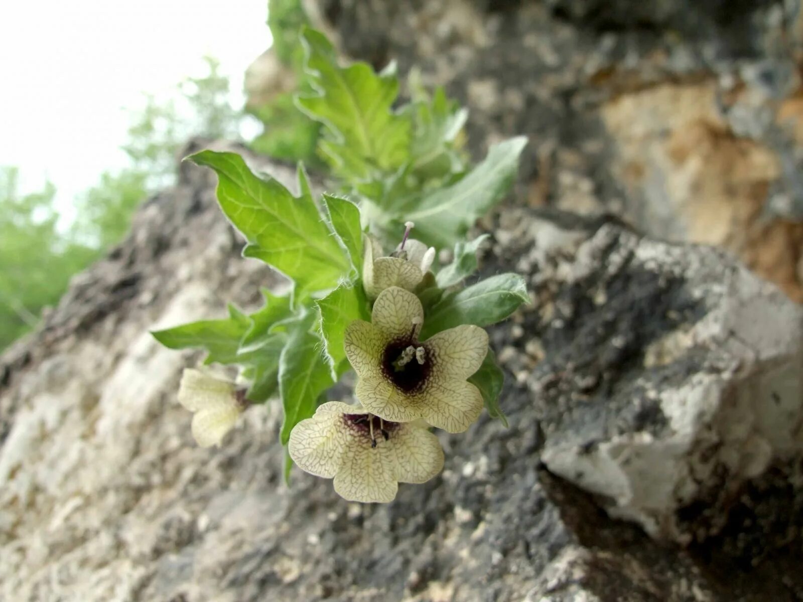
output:
[[[189, 157], [217, 173], [220, 208], [247, 240], [243, 255], [286, 276], [291, 291], [263, 291], [250, 314], [230, 306], [226, 319], [153, 336], [207, 352], [178, 392], [199, 445], [221, 445], [251, 405], [281, 401], [286, 475], [295, 462], [333, 478], [346, 499], [389, 502], [398, 482], [442, 469], [431, 429], [463, 433], [483, 407], [507, 425], [483, 327], [528, 294], [516, 274], [467, 285], [487, 237], [466, 237], [510, 189], [525, 140], [497, 144], [472, 167], [462, 148], [467, 112], [441, 89], [430, 96], [413, 82], [410, 102], [399, 104], [392, 68], [341, 65], [317, 31], [302, 42], [315, 93], [296, 103], [324, 128], [318, 150], [333, 192], [316, 197], [302, 166], [291, 193], [237, 154]], [[441, 266], [446, 249], [451, 261]], [[235, 366], [238, 376], [208, 364]], [[330, 400], [349, 372], [353, 399]]]

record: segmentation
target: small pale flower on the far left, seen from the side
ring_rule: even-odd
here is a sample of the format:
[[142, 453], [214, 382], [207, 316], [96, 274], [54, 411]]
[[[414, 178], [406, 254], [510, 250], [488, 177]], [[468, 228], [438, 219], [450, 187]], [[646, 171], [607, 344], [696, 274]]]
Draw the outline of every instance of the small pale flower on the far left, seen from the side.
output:
[[181, 374], [178, 402], [194, 413], [193, 437], [201, 447], [220, 445], [246, 407], [233, 382], [194, 368]]

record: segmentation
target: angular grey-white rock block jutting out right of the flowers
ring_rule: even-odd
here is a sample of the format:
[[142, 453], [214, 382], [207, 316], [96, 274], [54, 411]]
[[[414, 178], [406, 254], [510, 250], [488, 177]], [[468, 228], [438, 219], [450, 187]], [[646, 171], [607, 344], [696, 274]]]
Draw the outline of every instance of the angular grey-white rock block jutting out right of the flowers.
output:
[[801, 307], [712, 248], [606, 225], [556, 254], [507, 219], [535, 274], [543, 462], [655, 537], [719, 531], [746, 482], [803, 451]]

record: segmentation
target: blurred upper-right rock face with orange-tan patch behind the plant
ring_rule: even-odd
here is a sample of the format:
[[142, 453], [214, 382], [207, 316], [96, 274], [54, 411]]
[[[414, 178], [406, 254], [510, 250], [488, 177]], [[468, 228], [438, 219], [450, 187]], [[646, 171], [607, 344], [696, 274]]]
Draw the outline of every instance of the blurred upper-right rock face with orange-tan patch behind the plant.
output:
[[354, 57], [471, 109], [475, 156], [527, 134], [520, 199], [737, 254], [803, 301], [798, 0], [324, 0]]

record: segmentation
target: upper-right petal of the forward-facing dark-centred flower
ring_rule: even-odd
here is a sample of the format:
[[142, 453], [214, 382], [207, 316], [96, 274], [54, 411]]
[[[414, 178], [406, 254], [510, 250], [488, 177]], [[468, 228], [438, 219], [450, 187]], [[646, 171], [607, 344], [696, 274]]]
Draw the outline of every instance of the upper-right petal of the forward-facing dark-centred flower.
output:
[[488, 352], [488, 333], [479, 326], [462, 324], [424, 341], [438, 378], [467, 379], [477, 372]]

